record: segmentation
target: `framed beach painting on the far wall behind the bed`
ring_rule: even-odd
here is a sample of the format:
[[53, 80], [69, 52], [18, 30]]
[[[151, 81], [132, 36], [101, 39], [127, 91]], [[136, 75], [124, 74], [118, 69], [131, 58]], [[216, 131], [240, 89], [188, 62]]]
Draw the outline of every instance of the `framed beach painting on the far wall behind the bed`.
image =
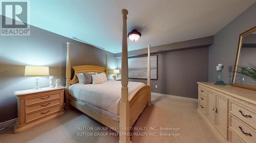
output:
[[[151, 55], [151, 79], [157, 79], [157, 55]], [[129, 78], [147, 79], [147, 56], [128, 59]]]

